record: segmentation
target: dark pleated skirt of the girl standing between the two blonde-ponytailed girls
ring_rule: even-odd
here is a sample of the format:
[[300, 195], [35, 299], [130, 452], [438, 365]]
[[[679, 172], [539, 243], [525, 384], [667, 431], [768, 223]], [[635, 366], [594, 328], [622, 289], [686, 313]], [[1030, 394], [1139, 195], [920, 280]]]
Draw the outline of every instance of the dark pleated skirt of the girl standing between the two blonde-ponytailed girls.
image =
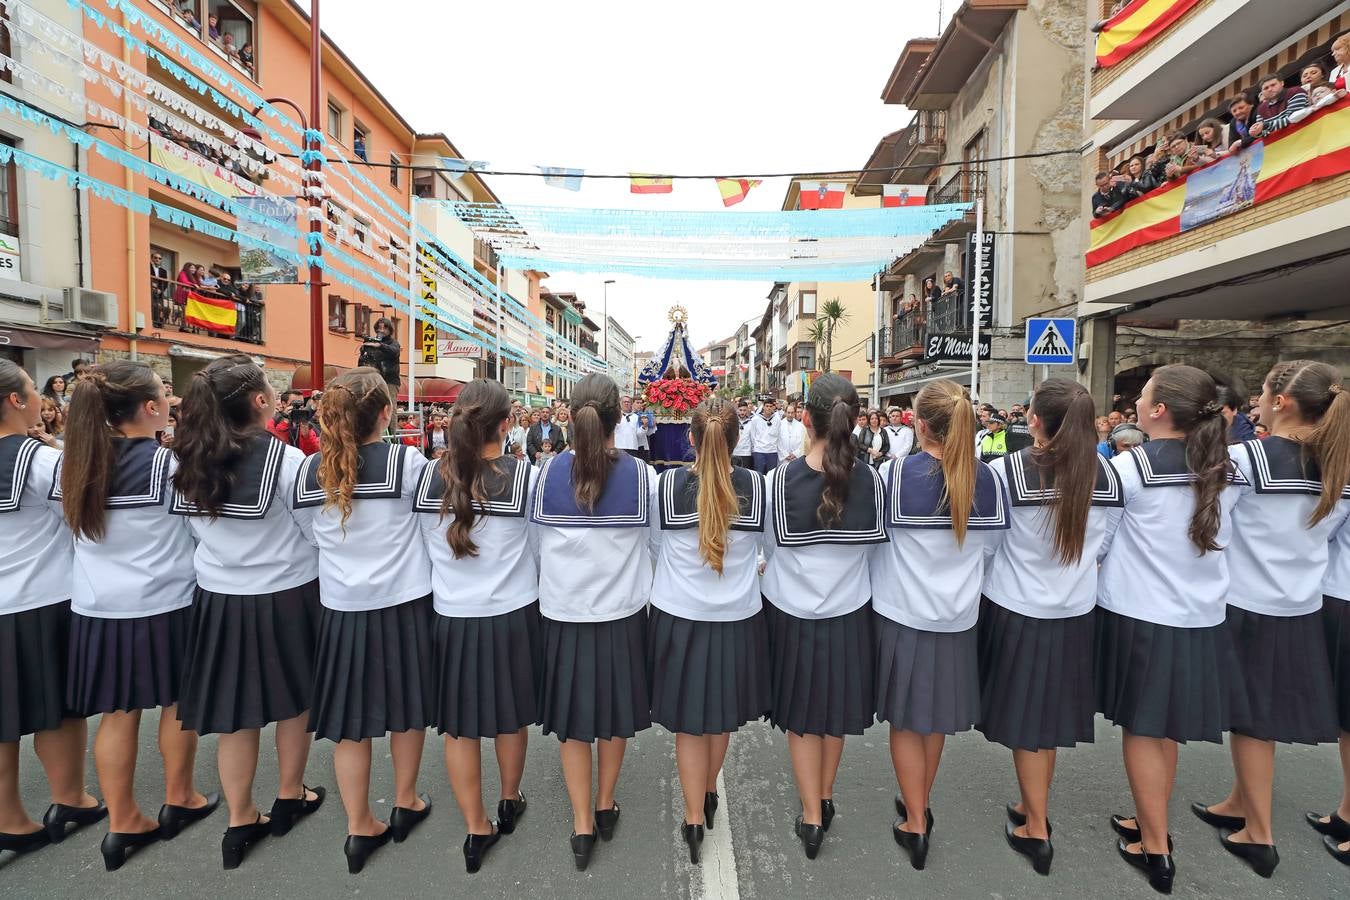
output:
[[770, 723], [792, 734], [863, 734], [876, 711], [872, 604], [826, 619], [802, 619], [765, 599], [764, 618]]

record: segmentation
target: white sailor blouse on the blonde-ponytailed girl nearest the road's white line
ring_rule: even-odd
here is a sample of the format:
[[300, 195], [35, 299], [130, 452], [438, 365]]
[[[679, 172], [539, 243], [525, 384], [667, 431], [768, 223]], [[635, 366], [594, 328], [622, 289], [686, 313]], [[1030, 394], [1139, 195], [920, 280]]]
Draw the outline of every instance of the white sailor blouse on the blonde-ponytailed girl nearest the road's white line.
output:
[[726, 533], [718, 575], [698, 548], [698, 475], [684, 467], [662, 472], [652, 529], [652, 606], [663, 613], [695, 622], [737, 622], [760, 611], [764, 478], [753, 470], [733, 468], [732, 490], [738, 511]]

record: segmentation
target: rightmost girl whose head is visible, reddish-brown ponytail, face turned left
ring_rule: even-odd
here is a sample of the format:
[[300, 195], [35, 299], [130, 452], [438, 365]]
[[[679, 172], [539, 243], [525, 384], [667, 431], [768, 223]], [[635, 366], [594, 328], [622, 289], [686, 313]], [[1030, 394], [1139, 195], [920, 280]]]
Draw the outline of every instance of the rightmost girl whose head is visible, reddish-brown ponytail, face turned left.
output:
[[1250, 716], [1234, 726], [1234, 787], [1192, 804], [1257, 874], [1280, 857], [1270, 831], [1274, 745], [1336, 739], [1336, 700], [1322, 619], [1328, 540], [1350, 515], [1350, 395], [1326, 363], [1278, 363], [1261, 391], [1265, 440], [1228, 448], [1243, 475], [1228, 544], [1228, 631]]

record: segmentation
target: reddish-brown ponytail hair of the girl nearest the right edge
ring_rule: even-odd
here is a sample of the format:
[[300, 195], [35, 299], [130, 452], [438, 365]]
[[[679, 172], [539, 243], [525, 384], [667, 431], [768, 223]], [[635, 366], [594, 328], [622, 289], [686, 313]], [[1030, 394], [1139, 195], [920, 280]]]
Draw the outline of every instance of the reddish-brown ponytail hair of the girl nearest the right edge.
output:
[[1293, 398], [1304, 420], [1314, 425], [1304, 441], [1322, 472], [1322, 497], [1308, 517], [1312, 528], [1331, 514], [1350, 482], [1350, 394], [1339, 370], [1311, 359], [1278, 363], [1266, 375], [1266, 386], [1270, 394]]

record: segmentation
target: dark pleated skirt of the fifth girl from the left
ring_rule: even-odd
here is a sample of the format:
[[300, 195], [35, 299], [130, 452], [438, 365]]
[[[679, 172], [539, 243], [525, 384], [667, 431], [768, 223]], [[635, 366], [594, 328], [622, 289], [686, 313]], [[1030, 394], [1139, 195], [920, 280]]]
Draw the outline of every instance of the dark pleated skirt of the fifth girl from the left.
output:
[[436, 614], [436, 730], [494, 738], [539, 722], [539, 603], [501, 615]]

